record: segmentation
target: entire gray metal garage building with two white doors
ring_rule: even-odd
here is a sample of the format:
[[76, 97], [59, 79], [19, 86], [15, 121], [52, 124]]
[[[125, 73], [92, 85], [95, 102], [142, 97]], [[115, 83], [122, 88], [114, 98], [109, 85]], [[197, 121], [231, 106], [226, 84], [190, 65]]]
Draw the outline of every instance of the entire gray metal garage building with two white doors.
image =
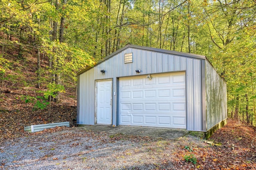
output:
[[128, 44], [78, 73], [80, 125], [208, 133], [226, 118], [226, 82], [202, 55]]

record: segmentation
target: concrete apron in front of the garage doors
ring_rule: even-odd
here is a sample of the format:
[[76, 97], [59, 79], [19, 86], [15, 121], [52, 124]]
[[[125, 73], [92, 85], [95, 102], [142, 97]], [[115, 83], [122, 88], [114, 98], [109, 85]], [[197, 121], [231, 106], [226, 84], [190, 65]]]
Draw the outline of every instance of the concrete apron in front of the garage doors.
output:
[[122, 133], [124, 135], [148, 136], [163, 139], [178, 140], [188, 133], [186, 129], [172, 129], [160, 127], [135, 127], [135, 126], [109, 126], [109, 125], [85, 125], [87, 131], [98, 131], [112, 134]]

